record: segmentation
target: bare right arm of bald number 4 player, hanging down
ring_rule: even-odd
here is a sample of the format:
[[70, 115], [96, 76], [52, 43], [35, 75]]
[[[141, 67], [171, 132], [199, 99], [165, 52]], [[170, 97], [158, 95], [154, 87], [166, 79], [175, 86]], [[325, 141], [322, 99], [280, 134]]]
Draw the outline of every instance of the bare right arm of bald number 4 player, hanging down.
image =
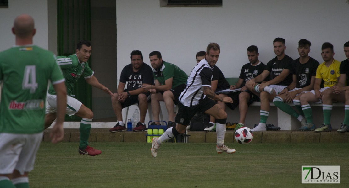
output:
[[53, 85], [57, 94], [57, 120], [54, 124], [50, 137], [53, 144], [61, 141], [64, 136], [63, 122], [65, 117], [66, 105], [67, 105], [67, 91], [65, 82], [61, 82]]

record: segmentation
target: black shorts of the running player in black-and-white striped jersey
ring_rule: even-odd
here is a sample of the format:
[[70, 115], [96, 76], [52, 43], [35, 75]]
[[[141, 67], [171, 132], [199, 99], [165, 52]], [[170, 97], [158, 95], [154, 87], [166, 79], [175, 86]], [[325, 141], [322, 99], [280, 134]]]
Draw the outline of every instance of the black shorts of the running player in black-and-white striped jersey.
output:
[[214, 100], [208, 98], [207, 96], [195, 106], [184, 106], [182, 103], [179, 103], [176, 123], [186, 126], [190, 123], [196, 112], [205, 112], [216, 104], [217, 103]]

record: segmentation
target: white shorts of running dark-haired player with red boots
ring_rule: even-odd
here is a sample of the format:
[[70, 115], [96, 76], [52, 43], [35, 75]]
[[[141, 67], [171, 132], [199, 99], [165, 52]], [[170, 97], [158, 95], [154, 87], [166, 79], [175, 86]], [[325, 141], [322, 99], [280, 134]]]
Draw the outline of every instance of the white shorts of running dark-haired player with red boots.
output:
[[[67, 108], [66, 114], [72, 116], [79, 111], [82, 103], [76, 98], [67, 95]], [[50, 95], [47, 93], [46, 96], [46, 110], [45, 114], [57, 113], [57, 95]]]

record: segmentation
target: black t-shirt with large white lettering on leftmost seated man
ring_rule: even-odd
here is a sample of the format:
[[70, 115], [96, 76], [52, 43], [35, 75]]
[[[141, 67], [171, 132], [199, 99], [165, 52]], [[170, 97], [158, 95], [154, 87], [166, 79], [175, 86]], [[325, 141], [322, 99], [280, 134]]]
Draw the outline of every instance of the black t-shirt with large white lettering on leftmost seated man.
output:
[[133, 72], [132, 63], [128, 64], [121, 71], [120, 82], [127, 82], [127, 91], [141, 88], [143, 83], [154, 85], [153, 69], [151, 69], [149, 65], [143, 63], [138, 72]]

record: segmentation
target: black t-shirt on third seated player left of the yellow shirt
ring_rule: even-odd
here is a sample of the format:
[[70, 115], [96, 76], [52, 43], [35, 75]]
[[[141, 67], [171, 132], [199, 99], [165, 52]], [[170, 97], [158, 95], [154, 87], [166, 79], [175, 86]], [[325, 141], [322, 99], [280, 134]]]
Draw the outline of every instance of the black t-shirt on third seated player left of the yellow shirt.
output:
[[[240, 85], [240, 88], [244, 87], [246, 82], [254, 79], [258, 75], [260, 75], [265, 69], [265, 64], [260, 62], [260, 64], [253, 66], [251, 63], [246, 63], [241, 68], [239, 79], [243, 79], [244, 81]], [[268, 78], [266, 78], [268, 79]]]

